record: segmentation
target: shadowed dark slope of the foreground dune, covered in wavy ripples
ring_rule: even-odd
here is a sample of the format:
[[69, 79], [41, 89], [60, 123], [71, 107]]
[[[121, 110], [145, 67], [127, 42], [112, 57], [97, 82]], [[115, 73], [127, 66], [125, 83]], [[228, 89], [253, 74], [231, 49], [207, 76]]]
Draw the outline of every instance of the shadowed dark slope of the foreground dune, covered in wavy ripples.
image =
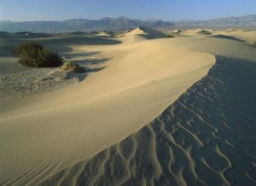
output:
[[42, 185], [255, 185], [256, 54], [229, 47], [151, 123]]

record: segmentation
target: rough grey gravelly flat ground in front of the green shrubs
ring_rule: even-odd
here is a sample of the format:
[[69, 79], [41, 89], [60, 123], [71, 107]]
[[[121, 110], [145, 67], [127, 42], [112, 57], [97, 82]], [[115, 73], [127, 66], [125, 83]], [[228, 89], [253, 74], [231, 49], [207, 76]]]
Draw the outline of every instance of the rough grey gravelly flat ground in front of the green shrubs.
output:
[[0, 108], [26, 96], [58, 90], [78, 83], [86, 73], [61, 71], [59, 68], [30, 69], [0, 76]]

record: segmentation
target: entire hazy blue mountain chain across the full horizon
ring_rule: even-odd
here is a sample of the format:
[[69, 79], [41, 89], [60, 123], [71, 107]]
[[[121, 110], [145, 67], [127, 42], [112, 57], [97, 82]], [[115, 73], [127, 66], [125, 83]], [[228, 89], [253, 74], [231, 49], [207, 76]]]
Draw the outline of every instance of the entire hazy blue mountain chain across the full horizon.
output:
[[175, 27], [244, 27], [256, 26], [256, 15], [241, 17], [226, 17], [212, 20], [132, 20], [126, 17], [102, 18], [101, 20], [73, 19], [64, 21], [0, 21], [0, 31], [3, 32], [72, 32], [72, 31], [98, 31], [98, 30], [126, 30], [138, 26], [152, 28]]

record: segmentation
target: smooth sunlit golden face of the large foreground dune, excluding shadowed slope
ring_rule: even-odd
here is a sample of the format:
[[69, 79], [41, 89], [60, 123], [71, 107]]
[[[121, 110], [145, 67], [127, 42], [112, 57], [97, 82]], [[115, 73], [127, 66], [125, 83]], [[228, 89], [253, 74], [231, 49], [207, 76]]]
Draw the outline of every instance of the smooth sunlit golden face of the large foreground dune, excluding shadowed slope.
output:
[[79, 84], [1, 107], [1, 183], [39, 183], [121, 141], [175, 102], [215, 61], [141, 33], [127, 33], [123, 44], [113, 45], [65, 38], [62, 48], [73, 49], [67, 55], [111, 60]]

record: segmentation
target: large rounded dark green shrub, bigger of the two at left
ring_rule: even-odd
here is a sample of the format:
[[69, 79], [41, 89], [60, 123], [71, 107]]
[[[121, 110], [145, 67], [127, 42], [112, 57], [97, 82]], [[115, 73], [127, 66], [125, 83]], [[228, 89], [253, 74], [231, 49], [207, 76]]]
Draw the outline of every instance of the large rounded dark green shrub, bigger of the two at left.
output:
[[19, 44], [16, 53], [20, 55], [20, 64], [27, 67], [59, 67], [62, 64], [59, 55], [38, 43]]

